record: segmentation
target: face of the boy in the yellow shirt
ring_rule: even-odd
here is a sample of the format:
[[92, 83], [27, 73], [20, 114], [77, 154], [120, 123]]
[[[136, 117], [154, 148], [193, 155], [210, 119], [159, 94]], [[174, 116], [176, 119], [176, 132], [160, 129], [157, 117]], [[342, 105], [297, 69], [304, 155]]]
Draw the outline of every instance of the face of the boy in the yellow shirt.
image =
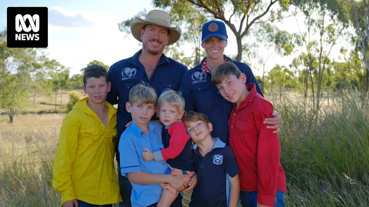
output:
[[111, 83], [107, 83], [105, 77], [90, 77], [86, 80], [86, 85], [82, 85], [83, 91], [89, 96], [89, 101], [95, 104], [105, 103], [106, 96], [111, 88]]

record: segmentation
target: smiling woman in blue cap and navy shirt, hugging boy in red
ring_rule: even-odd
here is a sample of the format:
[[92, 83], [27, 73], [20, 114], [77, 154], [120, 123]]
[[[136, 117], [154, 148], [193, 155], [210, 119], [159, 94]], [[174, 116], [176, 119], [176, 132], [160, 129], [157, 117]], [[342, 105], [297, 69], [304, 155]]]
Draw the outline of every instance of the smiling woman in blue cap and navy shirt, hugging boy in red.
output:
[[[203, 25], [201, 46], [205, 49], [206, 57], [193, 69], [187, 71], [181, 80], [180, 91], [186, 101], [186, 111], [204, 113], [213, 123], [213, 137], [219, 137], [224, 143], [228, 143], [228, 119], [232, 112], [232, 103], [225, 100], [219, 93], [217, 86], [211, 83], [211, 72], [215, 67], [225, 62], [233, 62], [242, 73], [246, 74], [246, 84], [255, 83], [256, 91], [263, 95], [250, 67], [238, 61], [233, 61], [223, 54], [227, 46], [227, 31], [221, 21], [212, 20]], [[280, 117], [277, 112], [273, 118], [266, 118], [265, 124], [269, 129], [280, 127]]]

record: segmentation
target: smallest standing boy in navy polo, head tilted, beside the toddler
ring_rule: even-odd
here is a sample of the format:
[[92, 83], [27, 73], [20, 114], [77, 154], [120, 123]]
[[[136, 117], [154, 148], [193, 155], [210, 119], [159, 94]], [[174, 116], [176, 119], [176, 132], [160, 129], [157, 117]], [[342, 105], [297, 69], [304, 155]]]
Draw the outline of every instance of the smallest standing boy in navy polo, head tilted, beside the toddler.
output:
[[182, 121], [192, 138], [197, 185], [190, 207], [237, 207], [240, 172], [231, 148], [211, 136], [213, 125], [198, 112], [187, 112]]

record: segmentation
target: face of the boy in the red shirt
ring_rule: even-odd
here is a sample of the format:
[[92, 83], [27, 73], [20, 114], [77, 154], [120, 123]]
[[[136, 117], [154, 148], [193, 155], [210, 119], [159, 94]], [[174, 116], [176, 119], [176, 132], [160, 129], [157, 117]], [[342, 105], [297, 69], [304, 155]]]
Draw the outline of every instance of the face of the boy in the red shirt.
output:
[[[220, 94], [227, 101], [232, 103], [238, 103], [245, 93], [246, 75], [241, 73], [239, 78], [235, 75], [230, 75], [223, 79], [223, 81], [217, 85]], [[241, 101], [242, 102], [242, 101]]]

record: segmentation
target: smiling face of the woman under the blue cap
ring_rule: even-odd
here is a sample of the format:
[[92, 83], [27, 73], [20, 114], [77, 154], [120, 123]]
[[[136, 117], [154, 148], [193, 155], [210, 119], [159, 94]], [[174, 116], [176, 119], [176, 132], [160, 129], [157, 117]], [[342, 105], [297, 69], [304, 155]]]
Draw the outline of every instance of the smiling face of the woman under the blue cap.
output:
[[224, 48], [227, 46], [227, 41], [222, 38], [210, 37], [205, 40], [201, 46], [205, 49], [206, 57], [214, 60], [223, 58]]

